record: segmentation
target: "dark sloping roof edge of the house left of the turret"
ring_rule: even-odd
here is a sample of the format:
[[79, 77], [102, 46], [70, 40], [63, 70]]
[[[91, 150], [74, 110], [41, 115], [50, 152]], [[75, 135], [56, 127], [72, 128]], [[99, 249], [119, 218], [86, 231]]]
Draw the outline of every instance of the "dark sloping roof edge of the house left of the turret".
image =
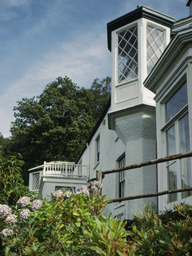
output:
[[82, 148], [82, 150], [80, 152], [80, 155], [78, 156], [78, 158], [76, 160], [76, 163], [78, 163], [78, 161], [81, 159], [82, 154], [84, 154], [84, 151], [87, 148], [87, 143], [89, 144], [91, 142], [91, 139], [93, 138], [94, 134], [97, 132], [97, 130], [98, 130], [99, 126], [101, 125], [101, 122], [103, 121], [105, 115], [107, 114], [108, 109], [110, 108], [110, 106], [111, 106], [111, 96], [108, 98], [107, 104], [105, 105], [105, 108], [103, 109], [101, 115], [99, 116], [99, 119], [98, 119], [96, 125], [94, 126], [93, 130], [91, 131], [91, 134], [90, 134], [89, 138], [87, 139], [84, 147]]

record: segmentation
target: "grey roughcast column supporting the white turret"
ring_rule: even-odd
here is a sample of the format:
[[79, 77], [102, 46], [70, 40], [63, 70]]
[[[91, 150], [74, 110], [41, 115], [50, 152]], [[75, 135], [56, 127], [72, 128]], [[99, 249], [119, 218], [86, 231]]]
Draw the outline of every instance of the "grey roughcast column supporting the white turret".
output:
[[[139, 114], [116, 121], [116, 133], [126, 144], [126, 166], [156, 159], [156, 118]], [[126, 171], [126, 196], [157, 191], [156, 166]], [[126, 201], [127, 218], [143, 204], [157, 203], [155, 197]]]

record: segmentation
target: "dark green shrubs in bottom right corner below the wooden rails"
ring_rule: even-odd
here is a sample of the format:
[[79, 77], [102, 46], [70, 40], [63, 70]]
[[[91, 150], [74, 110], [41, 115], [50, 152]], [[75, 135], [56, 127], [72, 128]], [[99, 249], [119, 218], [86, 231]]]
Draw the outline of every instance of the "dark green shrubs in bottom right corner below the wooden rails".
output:
[[128, 255], [191, 255], [191, 205], [176, 204], [174, 210], [158, 217], [145, 208], [140, 222], [135, 219], [137, 227], [132, 225], [128, 232], [133, 253]]

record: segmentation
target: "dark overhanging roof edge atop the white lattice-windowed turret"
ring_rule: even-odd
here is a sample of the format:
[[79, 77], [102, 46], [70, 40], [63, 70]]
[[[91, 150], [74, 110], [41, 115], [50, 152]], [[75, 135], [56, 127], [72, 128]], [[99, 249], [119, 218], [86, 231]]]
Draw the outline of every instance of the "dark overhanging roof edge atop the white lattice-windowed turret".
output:
[[111, 32], [123, 27], [131, 22], [134, 22], [137, 19], [146, 18], [153, 20], [159, 24], [162, 24], [166, 27], [172, 27], [174, 23], [174, 18], [171, 16], [159, 13], [158, 11], [149, 9], [145, 6], [140, 6], [137, 9], [131, 11], [130, 13], [121, 16], [118, 19], [112, 20], [111, 22], [107, 23], [107, 42], [108, 42], [108, 49], [111, 51]]

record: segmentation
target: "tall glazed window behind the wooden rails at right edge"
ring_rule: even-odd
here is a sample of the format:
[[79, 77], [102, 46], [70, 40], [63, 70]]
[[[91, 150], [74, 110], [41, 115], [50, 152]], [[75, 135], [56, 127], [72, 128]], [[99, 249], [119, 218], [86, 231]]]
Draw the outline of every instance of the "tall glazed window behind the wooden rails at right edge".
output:
[[[165, 103], [166, 123], [163, 131], [166, 134], [166, 154], [175, 155], [190, 151], [189, 114], [187, 100], [187, 83]], [[169, 161], [166, 164], [168, 189], [191, 187], [191, 160], [183, 158]], [[170, 194], [168, 203], [191, 196], [191, 191]]]

